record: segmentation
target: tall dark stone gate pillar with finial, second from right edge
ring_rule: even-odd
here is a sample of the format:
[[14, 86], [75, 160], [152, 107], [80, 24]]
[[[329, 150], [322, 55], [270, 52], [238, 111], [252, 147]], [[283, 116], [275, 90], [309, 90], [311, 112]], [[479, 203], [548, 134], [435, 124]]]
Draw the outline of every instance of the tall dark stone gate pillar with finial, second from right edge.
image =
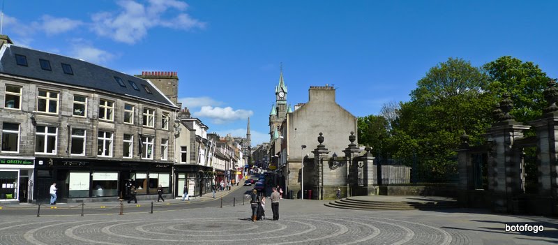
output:
[[488, 161], [488, 190], [492, 191], [495, 211], [511, 211], [513, 195], [523, 193], [521, 176], [521, 151], [513, 148], [515, 138], [522, 138], [530, 128], [515, 121], [509, 114], [513, 101], [504, 94], [495, 116], [499, 120], [487, 131], [492, 138], [492, 156]]

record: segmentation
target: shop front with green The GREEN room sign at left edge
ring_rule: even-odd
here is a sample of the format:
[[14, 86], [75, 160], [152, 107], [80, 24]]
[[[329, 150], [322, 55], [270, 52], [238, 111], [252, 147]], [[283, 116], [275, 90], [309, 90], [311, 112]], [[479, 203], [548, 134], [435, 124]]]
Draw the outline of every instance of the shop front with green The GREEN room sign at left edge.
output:
[[0, 200], [28, 202], [32, 198], [29, 181], [33, 177], [34, 158], [0, 156]]

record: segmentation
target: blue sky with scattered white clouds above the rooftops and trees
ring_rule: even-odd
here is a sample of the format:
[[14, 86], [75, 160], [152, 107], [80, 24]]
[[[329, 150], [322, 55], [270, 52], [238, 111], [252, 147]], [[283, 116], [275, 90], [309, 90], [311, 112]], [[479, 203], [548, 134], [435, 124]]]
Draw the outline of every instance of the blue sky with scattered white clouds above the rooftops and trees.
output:
[[[33, 5], [31, 8], [30, 6]], [[282, 62], [287, 101], [334, 84], [355, 116], [408, 101], [432, 66], [510, 55], [558, 77], [557, 1], [4, 0], [17, 45], [140, 74], [176, 71], [179, 98], [220, 135], [269, 140]]]

